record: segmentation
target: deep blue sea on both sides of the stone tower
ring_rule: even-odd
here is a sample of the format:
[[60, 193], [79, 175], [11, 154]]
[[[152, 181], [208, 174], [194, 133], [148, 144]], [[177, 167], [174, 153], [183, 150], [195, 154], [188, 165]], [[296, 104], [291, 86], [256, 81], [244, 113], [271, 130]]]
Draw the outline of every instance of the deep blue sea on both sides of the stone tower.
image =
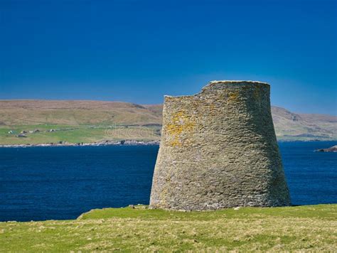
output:
[[[293, 205], [337, 203], [336, 142], [279, 142]], [[149, 204], [159, 146], [0, 148], [0, 221]]]

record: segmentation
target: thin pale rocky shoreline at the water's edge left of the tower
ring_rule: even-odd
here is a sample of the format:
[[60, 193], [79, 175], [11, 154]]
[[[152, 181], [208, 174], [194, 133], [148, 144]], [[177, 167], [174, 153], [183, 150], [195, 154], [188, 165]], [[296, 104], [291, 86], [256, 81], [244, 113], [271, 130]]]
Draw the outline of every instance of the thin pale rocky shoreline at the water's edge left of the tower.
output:
[[122, 141], [99, 141], [92, 143], [68, 143], [60, 141], [58, 143], [47, 144], [1, 144], [0, 148], [28, 148], [34, 146], [146, 146], [146, 145], [159, 145], [160, 141], [135, 141], [135, 140], [122, 140]]

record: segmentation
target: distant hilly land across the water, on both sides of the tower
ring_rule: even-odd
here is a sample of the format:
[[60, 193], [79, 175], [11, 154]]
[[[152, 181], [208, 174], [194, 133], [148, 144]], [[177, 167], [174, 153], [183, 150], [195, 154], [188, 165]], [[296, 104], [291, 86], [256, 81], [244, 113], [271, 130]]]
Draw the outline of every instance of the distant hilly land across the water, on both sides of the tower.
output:
[[[86, 100], [0, 100], [0, 146], [103, 145], [159, 141], [163, 104]], [[278, 141], [333, 141], [337, 117], [272, 107]], [[62, 144], [59, 144], [62, 141]], [[68, 143], [63, 145], [63, 143]], [[105, 145], [105, 144], [104, 144]], [[117, 143], [117, 145], [119, 145]], [[137, 141], [137, 145], [144, 145]]]

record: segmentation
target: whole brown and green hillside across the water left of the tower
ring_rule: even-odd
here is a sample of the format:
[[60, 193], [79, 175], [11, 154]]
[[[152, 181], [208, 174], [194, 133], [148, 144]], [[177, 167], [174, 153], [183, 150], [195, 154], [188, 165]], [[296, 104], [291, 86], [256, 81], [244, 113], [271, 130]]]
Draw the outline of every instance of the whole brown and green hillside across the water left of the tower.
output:
[[[102, 101], [2, 100], [0, 144], [159, 140], [161, 114], [139, 104]], [[158, 126], [146, 126], [158, 124]], [[21, 131], [33, 131], [27, 138]], [[55, 132], [48, 132], [55, 129]], [[14, 130], [16, 134], [9, 134]]]

